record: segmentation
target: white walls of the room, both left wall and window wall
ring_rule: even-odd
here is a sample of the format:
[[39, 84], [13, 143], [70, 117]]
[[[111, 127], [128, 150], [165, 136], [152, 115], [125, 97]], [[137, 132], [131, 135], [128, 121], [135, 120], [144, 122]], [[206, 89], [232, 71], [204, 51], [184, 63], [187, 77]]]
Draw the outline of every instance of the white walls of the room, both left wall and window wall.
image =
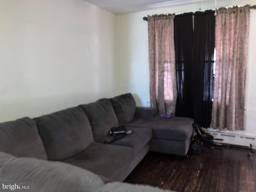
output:
[[[218, 7], [255, 4], [223, 0]], [[203, 10], [214, 2], [202, 3]], [[144, 16], [194, 12], [199, 4], [114, 16], [83, 0], [0, 1], [0, 122], [36, 117], [132, 92], [148, 106]], [[256, 135], [256, 10], [251, 10], [246, 134]], [[241, 133], [241, 132], [240, 132]]]

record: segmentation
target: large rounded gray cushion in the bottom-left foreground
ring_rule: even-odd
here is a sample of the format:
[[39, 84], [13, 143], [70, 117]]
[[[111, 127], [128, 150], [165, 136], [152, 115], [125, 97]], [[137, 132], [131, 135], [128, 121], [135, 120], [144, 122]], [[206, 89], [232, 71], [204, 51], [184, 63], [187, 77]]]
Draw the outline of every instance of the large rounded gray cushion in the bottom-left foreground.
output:
[[62, 162], [16, 158], [0, 168], [2, 182], [32, 182], [33, 192], [95, 192], [104, 185], [96, 174]]

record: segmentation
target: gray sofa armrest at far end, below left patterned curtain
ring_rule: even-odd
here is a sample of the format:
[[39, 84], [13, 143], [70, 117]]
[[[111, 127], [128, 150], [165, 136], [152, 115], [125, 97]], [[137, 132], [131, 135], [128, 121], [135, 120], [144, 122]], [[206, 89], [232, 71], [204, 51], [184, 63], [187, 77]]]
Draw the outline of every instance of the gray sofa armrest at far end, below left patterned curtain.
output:
[[151, 120], [156, 117], [156, 109], [150, 107], [136, 107], [134, 118]]

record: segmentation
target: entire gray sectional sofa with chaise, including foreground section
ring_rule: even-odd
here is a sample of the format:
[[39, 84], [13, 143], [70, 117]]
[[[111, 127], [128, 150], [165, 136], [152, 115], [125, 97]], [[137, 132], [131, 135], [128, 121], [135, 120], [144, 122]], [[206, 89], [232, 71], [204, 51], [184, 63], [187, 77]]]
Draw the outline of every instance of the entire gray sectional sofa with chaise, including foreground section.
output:
[[[86, 185], [88, 180], [95, 185], [93, 190], [69, 191], [144, 191], [150, 187], [114, 181], [123, 181], [149, 150], [185, 156], [192, 140], [193, 122], [189, 118], [156, 116], [152, 108], [136, 107], [132, 94], [123, 94], [34, 119], [0, 123], [0, 181], [29, 181], [31, 175], [22, 173], [31, 172], [36, 175], [35, 191], [50, 191], [48, 186], [56, 187], [67, 180], [68, 186], [73, 182]], [[132, 134], [105, 144], [112, 139], [108, 135], [110, 129], [120, 125], [132, 130]], [[25, 170], [11, 174], [16, 166]], [[52, 183], [48, 173], [56, 177], [63, 174], [63, 178]], [[44, 186], [37, 184], [40, 180]]]

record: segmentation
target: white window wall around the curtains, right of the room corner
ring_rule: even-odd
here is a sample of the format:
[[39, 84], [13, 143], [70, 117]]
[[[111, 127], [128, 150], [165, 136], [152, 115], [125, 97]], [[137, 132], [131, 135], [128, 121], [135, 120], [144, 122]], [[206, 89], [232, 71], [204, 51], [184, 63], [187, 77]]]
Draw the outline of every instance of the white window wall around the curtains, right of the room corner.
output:
[[[233, 6], [255, 4], [255, 0], [222, 0], [217, 6]], [[201, 4], [202, 10], [214, 9], [214, 1]], [[116, 92], [119, 94], [131, 92], [136, 96], [136, 102], [141, 106], [149, 106], [149, 68], [148, 68], [148, 23], [142, 18], [152, 14], [183, 13], [198, 11], [199, 4], [190, 4], [170, 8], [148, 10], [132, 14], [116, 16], [115, 38], [115, 70]], [[253, 24], [254, 23], [254, 24]], [[246, 97], [246, 132], [243, 134], [256, 135], [256, 90], [253, 83], [256, 82], [256, 13], [251, 13], [250, 45], [248, 56], [248, 91]]]

